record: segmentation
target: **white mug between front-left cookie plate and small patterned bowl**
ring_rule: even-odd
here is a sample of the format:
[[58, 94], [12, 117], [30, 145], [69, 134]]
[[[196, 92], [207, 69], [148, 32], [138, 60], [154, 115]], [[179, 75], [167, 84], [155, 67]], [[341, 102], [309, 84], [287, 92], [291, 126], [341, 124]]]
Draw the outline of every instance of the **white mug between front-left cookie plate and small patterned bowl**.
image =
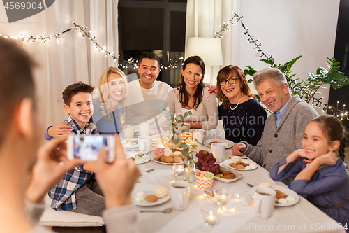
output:
[[174, 181], [171, 183], [171, 199], [173, 209], [184, 211], [188, 207], [191, 185], [186, 181]]

